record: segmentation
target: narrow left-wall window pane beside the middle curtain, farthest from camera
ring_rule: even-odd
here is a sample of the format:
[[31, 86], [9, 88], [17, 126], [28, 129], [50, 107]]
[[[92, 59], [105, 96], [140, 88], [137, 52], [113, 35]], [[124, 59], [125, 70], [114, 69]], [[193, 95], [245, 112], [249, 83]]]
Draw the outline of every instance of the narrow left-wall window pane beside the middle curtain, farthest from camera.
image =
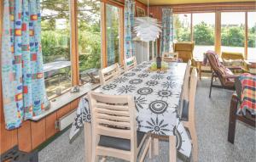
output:
[[106, 5], [108, 65], [119, 63], [119, 14], [120, 9], [113, 5]]

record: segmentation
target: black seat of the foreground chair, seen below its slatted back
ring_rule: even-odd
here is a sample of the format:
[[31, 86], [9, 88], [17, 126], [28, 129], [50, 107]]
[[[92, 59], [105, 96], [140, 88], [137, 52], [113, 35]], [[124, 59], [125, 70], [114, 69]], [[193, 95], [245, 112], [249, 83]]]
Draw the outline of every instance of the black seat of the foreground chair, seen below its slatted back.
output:
[[[143, 137], [145, 134], [146, 133], [144, 132], [137, 131], [137, 147], [143, 141]], [[101, 136], [98, 145], [102, 147], [121, 149], [125, 151], [131, 150], [131, 141], [118, 137]]]

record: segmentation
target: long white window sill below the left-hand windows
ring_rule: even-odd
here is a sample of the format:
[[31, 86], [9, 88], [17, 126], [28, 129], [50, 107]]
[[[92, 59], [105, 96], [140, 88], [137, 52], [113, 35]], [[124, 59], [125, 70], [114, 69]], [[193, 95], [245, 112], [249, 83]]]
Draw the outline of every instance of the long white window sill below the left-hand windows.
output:
[[45, 110], [42, 115], [34, 116], [32, 117], [33, 121], [38, 121], [44, 118], [45, 116], [55, 112], [58, 109], [61, 109], [63, 106], [65, 106], [68, 103], [73, 102], [74, 100], [81, 98], [84, 96], [87, 92], [90, 92], [90, 90], [95, 89], [96, 87], [99, 87], [99, 84], [84, 84], [83, 86], [79, 87], [79, 92], [66, 92], [62, 94], [61, 96], [58, 96], [52, 100], [49, 101], [50, 103], [50, 108]]

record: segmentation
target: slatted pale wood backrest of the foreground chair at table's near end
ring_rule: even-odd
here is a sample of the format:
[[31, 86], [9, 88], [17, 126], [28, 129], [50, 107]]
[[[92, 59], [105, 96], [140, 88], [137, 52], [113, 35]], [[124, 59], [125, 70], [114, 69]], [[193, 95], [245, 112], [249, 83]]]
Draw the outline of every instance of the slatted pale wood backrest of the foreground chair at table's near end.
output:
[[[137, 149], [137, 122], [134, 98], [89, 92], [92, 136], [131, 140], [131, 152]], [[98, 140], [93, 138], [94, 140]], [[96, 141], [92, 142], [96, 142]]]

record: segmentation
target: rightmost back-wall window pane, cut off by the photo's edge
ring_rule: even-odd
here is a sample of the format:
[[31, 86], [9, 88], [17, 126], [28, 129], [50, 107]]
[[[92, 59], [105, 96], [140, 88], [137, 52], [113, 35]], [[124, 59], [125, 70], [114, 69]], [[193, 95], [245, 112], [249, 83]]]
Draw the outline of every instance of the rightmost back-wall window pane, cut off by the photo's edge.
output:
[[247, 59], [256, 61], [256, 12], [247, 13], [248, 22], [248, 48]]

